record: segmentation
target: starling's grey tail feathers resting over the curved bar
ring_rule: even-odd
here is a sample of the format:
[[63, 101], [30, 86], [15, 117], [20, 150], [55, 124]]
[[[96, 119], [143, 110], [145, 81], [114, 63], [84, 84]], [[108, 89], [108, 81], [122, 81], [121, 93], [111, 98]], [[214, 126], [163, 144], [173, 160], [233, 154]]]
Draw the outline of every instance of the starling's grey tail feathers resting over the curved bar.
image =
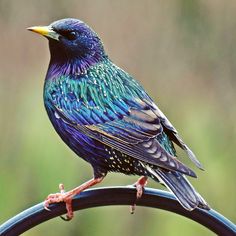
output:
[[164, 184], [186, 210], [192, 211], [196, 207], [210, 209], [206, 201], [195, 191], [183, 174], [164, 169], [152, 169], [149, 166], [146, 166], [146, 168], [152, 179]]

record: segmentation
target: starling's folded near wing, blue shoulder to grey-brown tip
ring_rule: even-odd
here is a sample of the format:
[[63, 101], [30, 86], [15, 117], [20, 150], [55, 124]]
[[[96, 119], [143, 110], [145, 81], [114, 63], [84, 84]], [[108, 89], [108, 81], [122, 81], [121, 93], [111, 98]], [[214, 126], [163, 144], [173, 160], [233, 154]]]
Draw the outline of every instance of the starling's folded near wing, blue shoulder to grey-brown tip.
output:
[[83, 117], [88, 124], [81, 124], [81, 118], [78, 120], [84, 112], [73, 109], [65, 113], [55, 104], [54, 110], [65, 123], [111, 148], [145, 163], [196, 177], [191, 169], [170, 155], [158, 142], [157, 136], [163, 132], [163, 125], [145, 100], [119, 99], [105, 112], [87, 108]]

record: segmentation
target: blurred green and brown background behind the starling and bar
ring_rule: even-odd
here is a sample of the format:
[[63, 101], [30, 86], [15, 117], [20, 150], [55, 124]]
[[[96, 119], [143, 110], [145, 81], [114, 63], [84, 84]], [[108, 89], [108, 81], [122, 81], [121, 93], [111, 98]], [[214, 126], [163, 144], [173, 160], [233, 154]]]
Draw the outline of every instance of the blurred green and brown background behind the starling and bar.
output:
[[[111, 59], [143, 84], [205, 166], [196, 170], [185, 158], [199, 176], [193, 185], [236, 222], [235, 12], [233, 0], [0, 0], [0, 222], [56, 192], [60, 182], [71, 189], [92, 176], [47, 118], [47, 40], [26, 31], [65, 17], [87, 22]], [[101, 186], [135, 180], [109, 174]], [[138, 207], [130, 215], [128, 207], [103, 207], [25, 235], [213, 234], [161, 210]]]

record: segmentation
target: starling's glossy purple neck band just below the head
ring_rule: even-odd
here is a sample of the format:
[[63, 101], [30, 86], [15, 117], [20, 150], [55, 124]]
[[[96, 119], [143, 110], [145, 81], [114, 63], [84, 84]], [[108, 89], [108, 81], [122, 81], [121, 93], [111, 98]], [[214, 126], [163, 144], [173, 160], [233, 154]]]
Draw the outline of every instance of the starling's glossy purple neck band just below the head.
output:
[[70, 58], [60, 60], [60, 58], [51, 58], [46, 79], [58, 78], [60, 76], [80, 75], [85, 73], [89, 68], [107, 60], [105, 54], [87, 56], [83, 58]]

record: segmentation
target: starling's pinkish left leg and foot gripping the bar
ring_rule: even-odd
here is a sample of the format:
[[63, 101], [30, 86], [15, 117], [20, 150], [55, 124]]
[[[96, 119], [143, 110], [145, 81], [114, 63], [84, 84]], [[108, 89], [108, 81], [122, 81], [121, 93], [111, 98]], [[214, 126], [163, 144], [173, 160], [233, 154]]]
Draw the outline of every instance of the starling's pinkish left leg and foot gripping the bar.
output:
[[[44, 202], [44, 208], [46, 210], [49, 210], [48, 207], [52, 203], [58, 203], [58, 202], [65, 202], [66, 204], [66, 209], [67, 209], [67, 214], [65, 220], [69, 221], [73, 218], [74, 213], [72, 209], [72, 199], [75, 195], [81, 193], [85, 189], [100, 183], [104, 177], [100, 178], [93, 178], [83, 184], [81, 184], [79, 187], [72, 189], [71, 191], [65, 192], [64, 185], [60, 184], [59, 189], [60, 193], [54, 193], [54, 194], [49, 194], [48, 197], [46, 198]], [[64, 218], [63, 218], [64, 219]]]

